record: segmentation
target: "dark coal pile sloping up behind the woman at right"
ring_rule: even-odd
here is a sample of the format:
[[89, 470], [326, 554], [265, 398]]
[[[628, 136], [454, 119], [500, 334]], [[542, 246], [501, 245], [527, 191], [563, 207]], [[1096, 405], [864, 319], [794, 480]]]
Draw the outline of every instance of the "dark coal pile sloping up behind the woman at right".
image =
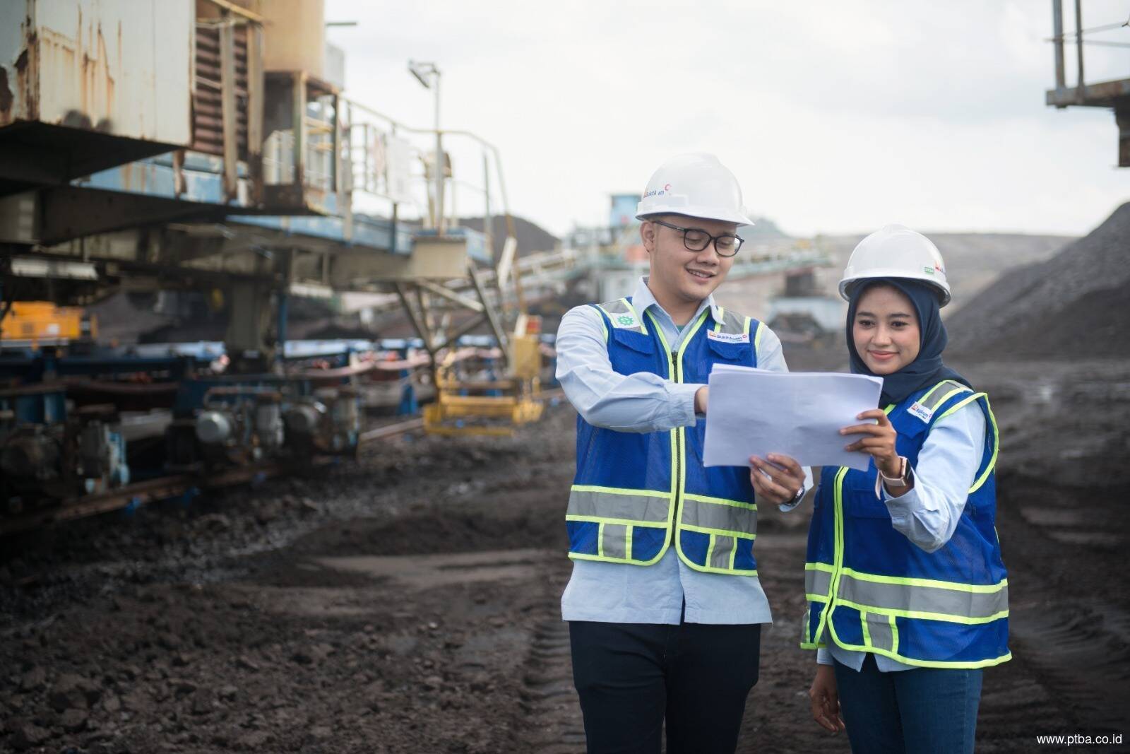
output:
[[1006, 272], [947, 320], [949, 350], [1006, 358], [1130, 356], [1130, 202], [1055, 257]]

